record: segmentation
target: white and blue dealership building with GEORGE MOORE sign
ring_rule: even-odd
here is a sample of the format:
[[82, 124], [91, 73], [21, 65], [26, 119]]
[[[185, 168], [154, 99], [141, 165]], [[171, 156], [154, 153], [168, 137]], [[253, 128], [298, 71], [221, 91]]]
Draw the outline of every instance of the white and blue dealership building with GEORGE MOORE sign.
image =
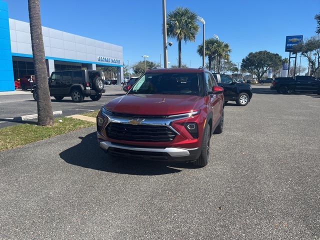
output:
[[[105, 79], [123, 79], [122, 46], [42, 26], [48, 76], [56, 70], [93, 69]], [[14, 80], [34, 74], [30, 26], [8, 18], [0, 0], [0, 91], [13, 91]]]

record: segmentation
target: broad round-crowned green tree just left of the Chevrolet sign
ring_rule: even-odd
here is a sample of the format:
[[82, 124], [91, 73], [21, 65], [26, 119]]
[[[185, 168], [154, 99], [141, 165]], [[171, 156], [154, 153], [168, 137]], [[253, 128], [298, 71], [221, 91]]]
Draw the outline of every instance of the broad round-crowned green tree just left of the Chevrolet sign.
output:
[[250, 52], [242, 59], [241, 68], [245, 72], [256, 75], [258, 81], [269, 68], [281, 65], [282, 58], [277, 53], [269, 51]]

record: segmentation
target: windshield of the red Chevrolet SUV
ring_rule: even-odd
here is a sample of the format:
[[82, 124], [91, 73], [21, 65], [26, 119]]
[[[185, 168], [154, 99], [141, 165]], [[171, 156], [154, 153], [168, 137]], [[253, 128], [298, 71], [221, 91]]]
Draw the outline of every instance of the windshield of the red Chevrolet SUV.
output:
[[199, 95], [198, 73], [146, 73], [128, 94]]

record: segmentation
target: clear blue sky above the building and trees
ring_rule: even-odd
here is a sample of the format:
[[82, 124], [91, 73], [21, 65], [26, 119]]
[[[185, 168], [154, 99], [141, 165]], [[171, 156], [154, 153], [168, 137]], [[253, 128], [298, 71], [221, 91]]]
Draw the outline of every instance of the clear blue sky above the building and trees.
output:
[[[27, 0], [6, 0], [9, 17], [28, 21]], [[203, 6], [201, 5], [203, 3]], [[124, 62], [141, 55], [159, 61], [162, 52], [161, 0], [41, 0], [42, 25], [123, 46]], [[167, 11], [188, 7], [206, 21], [206, 37], [214, 33], [230, 44], [231, 60], [241, 61], [250, 51], [284, 52], [285, 36], [315, 34], [313, 19], [320, 0], [167, 0]], [[168, 61], [176, 63], [177, 42], [168, 49]], [[195, 42], [182, 43], [182, 61], [201, 65]], [[306, 65], [306, 59], [302, 64]]]

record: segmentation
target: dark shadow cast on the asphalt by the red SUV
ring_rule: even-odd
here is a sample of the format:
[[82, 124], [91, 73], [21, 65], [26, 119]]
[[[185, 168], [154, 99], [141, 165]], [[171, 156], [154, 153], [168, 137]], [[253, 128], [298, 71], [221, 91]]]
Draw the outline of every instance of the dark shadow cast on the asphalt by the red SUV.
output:
[[132, 175], [161, 175], [180, 172], [178, 168], [195, 168], [191, 163], [169, 163], [147, 160], [119, 159], [110, 157], [98, 146], [96, 133], [92, 132], [82, 141], [62, 152], [60, 157], [67, 163], [100, 171]]

